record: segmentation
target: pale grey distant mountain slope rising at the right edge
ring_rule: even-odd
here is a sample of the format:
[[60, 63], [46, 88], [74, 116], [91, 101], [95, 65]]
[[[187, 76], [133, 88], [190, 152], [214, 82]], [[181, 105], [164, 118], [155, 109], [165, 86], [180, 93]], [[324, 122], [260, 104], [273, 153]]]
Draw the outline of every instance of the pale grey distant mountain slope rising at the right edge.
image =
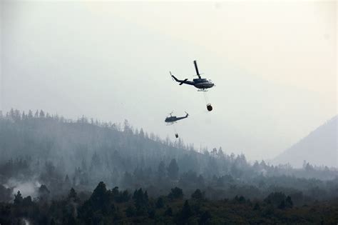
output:
[[317, 166], [338, 167], [337, 123], [338, 116], [334, 116], [273, 159], [272, 163], [290, 163], [292, 166], [300, 167], [305, 160]]

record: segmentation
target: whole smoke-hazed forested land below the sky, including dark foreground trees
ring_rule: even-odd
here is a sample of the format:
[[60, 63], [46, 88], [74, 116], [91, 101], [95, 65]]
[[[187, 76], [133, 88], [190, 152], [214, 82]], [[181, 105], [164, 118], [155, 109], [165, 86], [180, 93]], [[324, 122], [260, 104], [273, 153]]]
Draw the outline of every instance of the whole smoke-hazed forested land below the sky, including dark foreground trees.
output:
[[336, 224], [338, 171], [160, 139], [125, 121], [0, 118], [0, 224]]

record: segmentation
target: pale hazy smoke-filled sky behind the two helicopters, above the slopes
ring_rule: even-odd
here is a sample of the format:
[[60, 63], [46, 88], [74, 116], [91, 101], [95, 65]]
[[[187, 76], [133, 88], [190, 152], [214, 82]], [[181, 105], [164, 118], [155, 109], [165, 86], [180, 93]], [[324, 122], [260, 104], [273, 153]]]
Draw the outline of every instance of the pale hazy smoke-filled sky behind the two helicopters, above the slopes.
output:
[[[337, 114], [337, 2], [1, 1], [1, 108], [269, 159]], [[215, 82], [203, 93], [193, 60]]]

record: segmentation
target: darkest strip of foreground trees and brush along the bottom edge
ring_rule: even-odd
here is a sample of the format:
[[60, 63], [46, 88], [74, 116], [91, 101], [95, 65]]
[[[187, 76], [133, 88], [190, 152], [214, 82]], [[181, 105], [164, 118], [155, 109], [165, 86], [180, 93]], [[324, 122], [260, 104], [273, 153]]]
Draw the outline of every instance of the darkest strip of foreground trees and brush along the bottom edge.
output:
[[200, 189], [187, 196], [175, 187], [154, 198], [143, 189], [107, 189], [100, 182], [91, 194], [72, 188], [53, 201], [18, 191], [14, 201], [0, 204], [0, 224], [335, 224], [337, 211], [337, 199], [297, 207], [282, 192], [262, 200], [210, 201]]

